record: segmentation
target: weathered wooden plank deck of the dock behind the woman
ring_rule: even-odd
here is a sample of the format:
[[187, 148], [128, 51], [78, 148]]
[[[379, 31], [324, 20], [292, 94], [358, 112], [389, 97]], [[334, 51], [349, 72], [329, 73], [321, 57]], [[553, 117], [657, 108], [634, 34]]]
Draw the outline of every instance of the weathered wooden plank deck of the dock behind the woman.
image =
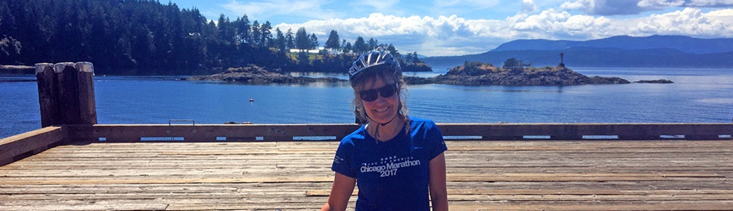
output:
[[[337, 144], [65, 145], [0, 166], [0, 210], [317, 210]], [[451, 210], [733, 210], [733, 141], [447, 144]]]

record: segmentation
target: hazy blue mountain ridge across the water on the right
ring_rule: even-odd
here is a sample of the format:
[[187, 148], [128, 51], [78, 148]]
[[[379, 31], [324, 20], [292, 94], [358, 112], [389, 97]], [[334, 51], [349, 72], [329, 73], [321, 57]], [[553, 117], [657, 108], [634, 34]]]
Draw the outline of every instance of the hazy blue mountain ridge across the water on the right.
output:
[[615, 36], [599, 40], [514, 40], [479, 54], [422, 59], [433, 67], [454, 67], [465, 61], [501, 66], [516, 58], [535, 67], [555, 66], [564, 53], [569, 67], [733, 67], [733, 39], [685, 36]]

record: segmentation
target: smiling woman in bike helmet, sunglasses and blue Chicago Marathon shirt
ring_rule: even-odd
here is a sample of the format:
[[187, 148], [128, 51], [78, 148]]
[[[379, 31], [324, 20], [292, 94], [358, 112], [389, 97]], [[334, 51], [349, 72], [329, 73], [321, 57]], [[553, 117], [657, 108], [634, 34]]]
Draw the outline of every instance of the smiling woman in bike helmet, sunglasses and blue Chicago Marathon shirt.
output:
[[[407, 116], [402, 68], [390, 53], [353, 62], [354, 105], [367, 124], [342, 139], [334, 184], [321, 210], [346, 210], [358, 184], [356, 210], [448, 210], [447, 150], [434, 122]], [[358, 181], [358, 183], [356, 182]]]

